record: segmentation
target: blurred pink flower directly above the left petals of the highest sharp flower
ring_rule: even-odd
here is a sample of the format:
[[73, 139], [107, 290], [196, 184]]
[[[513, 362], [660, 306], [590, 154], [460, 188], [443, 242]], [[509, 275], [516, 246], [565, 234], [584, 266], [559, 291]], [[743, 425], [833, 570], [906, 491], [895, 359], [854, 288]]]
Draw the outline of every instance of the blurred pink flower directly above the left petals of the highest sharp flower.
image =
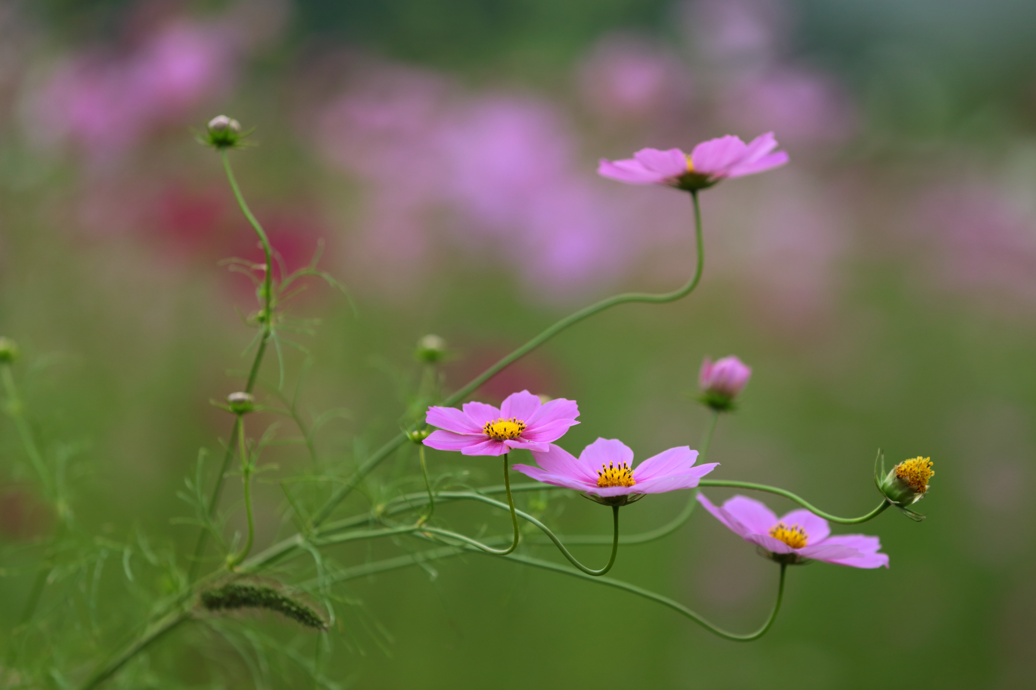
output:
[[583, 60], [579, 90], [600, 118], [645, 119], [682, 104], [690, 92], [690, 74], [646, 40], [608, 36]]

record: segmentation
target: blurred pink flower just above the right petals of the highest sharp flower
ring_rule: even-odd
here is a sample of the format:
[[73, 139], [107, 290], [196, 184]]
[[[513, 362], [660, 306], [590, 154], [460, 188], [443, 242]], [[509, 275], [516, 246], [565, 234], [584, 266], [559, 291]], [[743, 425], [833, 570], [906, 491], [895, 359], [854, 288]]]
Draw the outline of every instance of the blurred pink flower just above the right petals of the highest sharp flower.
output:
[[773, 127], [781, 139], [802, 144], [842, 141], [857, 124], [833, 78], [794, 67], [733, 81], [721, 94], [720, 115], [739, 128]]

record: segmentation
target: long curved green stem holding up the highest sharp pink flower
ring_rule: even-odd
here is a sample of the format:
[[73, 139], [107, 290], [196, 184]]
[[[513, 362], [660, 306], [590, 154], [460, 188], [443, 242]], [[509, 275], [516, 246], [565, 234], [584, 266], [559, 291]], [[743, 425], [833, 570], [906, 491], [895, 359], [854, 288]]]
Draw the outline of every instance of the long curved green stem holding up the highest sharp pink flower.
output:
[[[664, 304], [666, 302], [674, 302], [679, 299], [687, 297], [690, 295], [695, 288], [698, 287], [698, 282], [701, 280], [701, 273], [704, 269], [704, 238], [701, 229], [701, 207], [698, 203], [698, 193], [696, 191], [691, 192], [691, 200], [694, 206], [694, 241], [695, 247], [697, 249], [697, 261], [694, 267], [694, 275], [688, 280], [682, 288], [674, 290], [669, 293], [623, 293], [603, 299], [600, 302], [592, 304], [587, 307], [576, 311], [575, 313], [569, 314], [565, 319], [554, 323], [552, 326], [547, 327], [545, 330], [541, 331], [539, 335], [534, 337], [531, 340], [521, 346], [510, 355], [507, 355], [498, 362], [490, 366], [488, 369], [477, 376], [474, 379], [469, 381], [463, 388], [456, 391], [453, 395], [448, 397], [443, 401], [443, 406], [451, 407], [457, 402], [463, 400], [469, 394], [471, 394], [479, 386], [489, 381], [491, 378], [496, 376], [500, 369], [512, 364], [516, 360], [524, 357], [531, 351], [539, 348], [541, 344], [554, 337], [565, 329], [575, 324], [578, 324], [584, 319], [588, 319], [594, 314], [604, 311], [605, 309], [611, 308], [618, 304], [626, 304], [628, 302], [648, 302], [654, 304]], [[330, 515], [332, 511], [340, 504], [352, 489], [355, 488], [356, 484], [366, 477], [370, 472], [378, 466], [382, 460], [388, 457], [393, 451], [402, 446], [407, 441], [406, 433], [400, 432], [394, 439], [388, 441], [385, 445], [379, 448], [373, 455], [371, 455], [363, 464], [356, 468], [349, 481], [336, 490], [332, 497], [327, 500], [327, 503], [317, 512], [313, 523], [320, 524]]]

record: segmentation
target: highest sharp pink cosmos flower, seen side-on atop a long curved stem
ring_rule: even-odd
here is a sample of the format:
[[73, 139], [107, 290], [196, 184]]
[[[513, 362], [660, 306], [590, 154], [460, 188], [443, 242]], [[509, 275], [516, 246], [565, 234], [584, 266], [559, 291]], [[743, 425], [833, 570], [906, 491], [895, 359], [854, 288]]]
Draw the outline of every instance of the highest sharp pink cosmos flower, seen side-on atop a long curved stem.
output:
[[749, 144], [727, 134], [701, 142], [691, 153], [680, 149], [640, 149], [632, 158], [601, 158], [598, 175], [629, 184], [664, 184], [695, 191], [728, 177], [764, 173], [787, 162], [787, 153], [777, 148], [774, 133], [759, 134]]

